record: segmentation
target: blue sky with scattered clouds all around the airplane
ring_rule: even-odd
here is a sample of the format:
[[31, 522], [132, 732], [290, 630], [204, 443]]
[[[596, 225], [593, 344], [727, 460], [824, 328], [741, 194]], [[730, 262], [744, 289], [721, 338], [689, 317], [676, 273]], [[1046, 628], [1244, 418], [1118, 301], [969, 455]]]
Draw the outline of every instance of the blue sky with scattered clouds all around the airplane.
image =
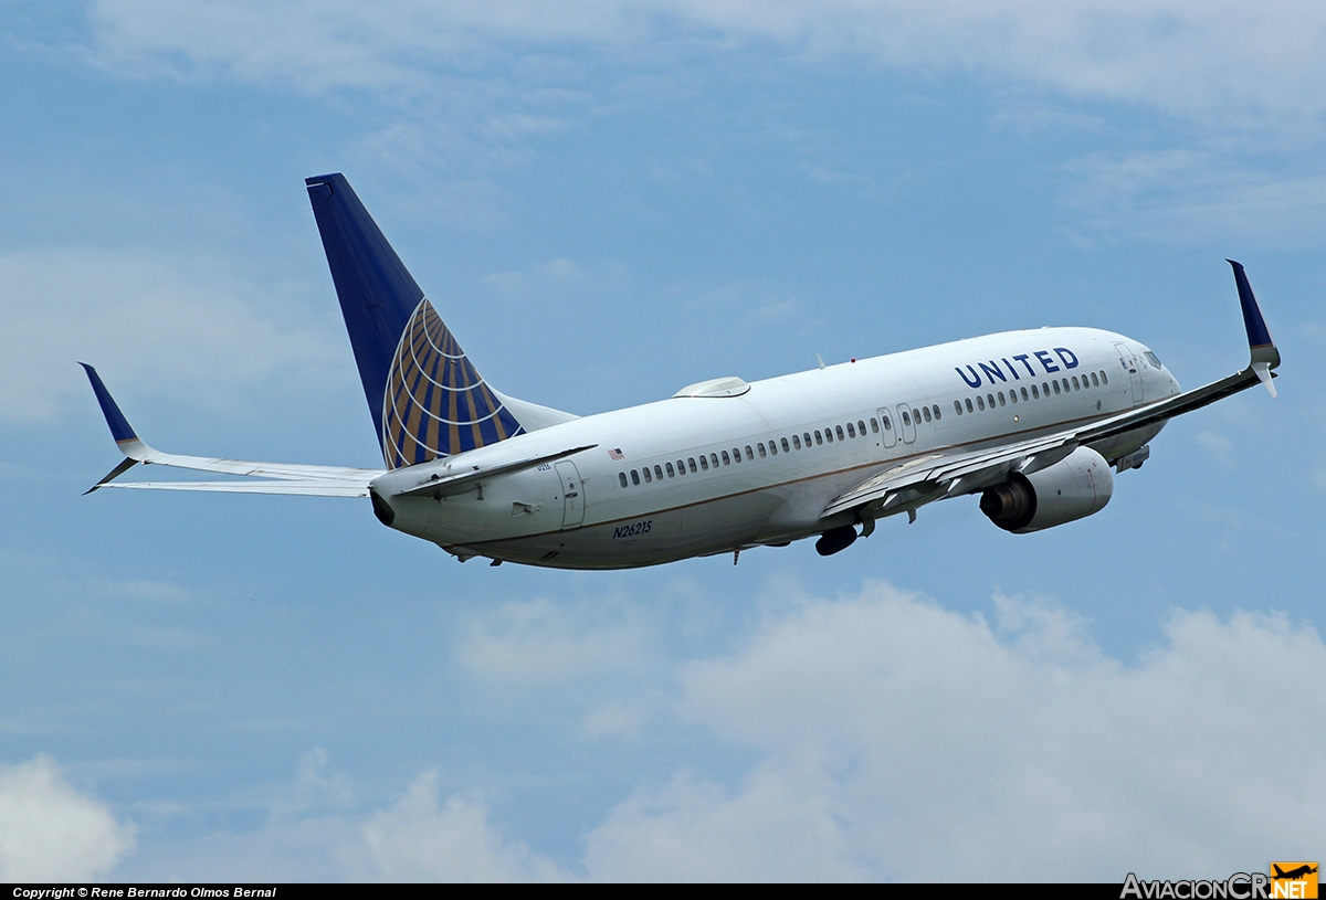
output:
[[[1326, 843], [1326, 11], [0, 1], [0, 877], [1223, 876]], [[573, 412], [994, 330], [1184, 386], [1106, 510], [975, 501], [613, 574], [367, 505], [80, 496], [375, 465], [302, 178]], [[52, 835], [62, 835], [58, 840]], [[936, 867], [935, 860], [944, 860]]]

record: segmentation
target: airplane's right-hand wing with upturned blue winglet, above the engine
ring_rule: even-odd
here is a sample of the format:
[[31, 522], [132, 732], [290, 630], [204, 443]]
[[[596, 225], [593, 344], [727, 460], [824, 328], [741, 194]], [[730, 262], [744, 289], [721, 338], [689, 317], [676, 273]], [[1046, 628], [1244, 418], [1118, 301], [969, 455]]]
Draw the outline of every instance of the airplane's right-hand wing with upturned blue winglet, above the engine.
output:
[[998, 484], [1010, 472], [1024, 475], [1038, 472], [1065, 459], [1078, 447], [1158, 422], [1167, 422], [1258, 383], [1265, 384], [1274, 398], [1276, 386], [1272, 380], [1274, 375], [1270, 370], [1280, 366], [1280, 351], [1270, 338], [1266, 321], [1252, 293], [1252, 286], [1248, 284], [1244, 268], [1233, 260], [1227, 261], [1235, 270], [1235, 284], [1238, 286], [1238, 301], [1242, 306], [1244, 327], [1248, 331], [1248, 346], [1252, 355], [1248, 367], [1242, 371], [1193, 391], [1185, 391], [1077, 428], [1014, 444], [940, 452], [908, 460], [835, 497], [825, 506], [822, 517], [827, 518], [837, 513], [858, 509], [863, 521], [873, 521], [891, 512], [915, 509], [934, 500], [971, 493]]

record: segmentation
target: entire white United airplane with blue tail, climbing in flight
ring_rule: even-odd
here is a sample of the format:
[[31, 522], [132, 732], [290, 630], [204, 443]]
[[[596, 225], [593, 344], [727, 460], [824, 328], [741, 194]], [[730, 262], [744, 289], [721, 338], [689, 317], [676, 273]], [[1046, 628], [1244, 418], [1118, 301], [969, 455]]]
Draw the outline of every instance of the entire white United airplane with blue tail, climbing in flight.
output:
[[[130, 427], [84, 363], [126, 459], [97, 488], [367, 497], [383, 525], [461, 562], [627, 569], [818, 537], [980, 494], [1025, 534], [1091, 516], [1174, 416], [1257, 384], [1280, 353], [1231, 261], [1252, 359], [1181, 392], [1142, 343], [1085, 327], [1005, 331], [578, 418], [489, 386], [342, 175], [306, 179], [385, 469], [178, 456]], [[137, 463], [255, 480], [115, 482]]]

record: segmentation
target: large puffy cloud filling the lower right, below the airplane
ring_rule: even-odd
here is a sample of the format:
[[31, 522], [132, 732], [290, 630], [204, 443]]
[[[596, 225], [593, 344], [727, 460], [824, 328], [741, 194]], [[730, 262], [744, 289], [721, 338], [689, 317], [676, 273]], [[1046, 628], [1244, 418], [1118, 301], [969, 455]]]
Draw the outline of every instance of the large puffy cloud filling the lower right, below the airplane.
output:
[[876, 583], [680, 679], [679, 714], [761, 759], [642, 790], [593, 876], [1114, 880], [1326, 839], [1326, 646], [1281, 616], [1179, 611], [1124, 661], [1054, 606], [991, 623]]

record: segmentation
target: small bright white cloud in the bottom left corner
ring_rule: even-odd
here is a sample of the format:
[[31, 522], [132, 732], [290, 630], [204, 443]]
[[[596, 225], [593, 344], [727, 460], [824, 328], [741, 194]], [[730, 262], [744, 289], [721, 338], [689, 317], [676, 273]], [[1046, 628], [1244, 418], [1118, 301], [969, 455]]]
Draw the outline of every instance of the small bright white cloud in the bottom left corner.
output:
[[90, 881], [134, 850], [115, 819], [38, 756], [0, 766], [0, 881]]

